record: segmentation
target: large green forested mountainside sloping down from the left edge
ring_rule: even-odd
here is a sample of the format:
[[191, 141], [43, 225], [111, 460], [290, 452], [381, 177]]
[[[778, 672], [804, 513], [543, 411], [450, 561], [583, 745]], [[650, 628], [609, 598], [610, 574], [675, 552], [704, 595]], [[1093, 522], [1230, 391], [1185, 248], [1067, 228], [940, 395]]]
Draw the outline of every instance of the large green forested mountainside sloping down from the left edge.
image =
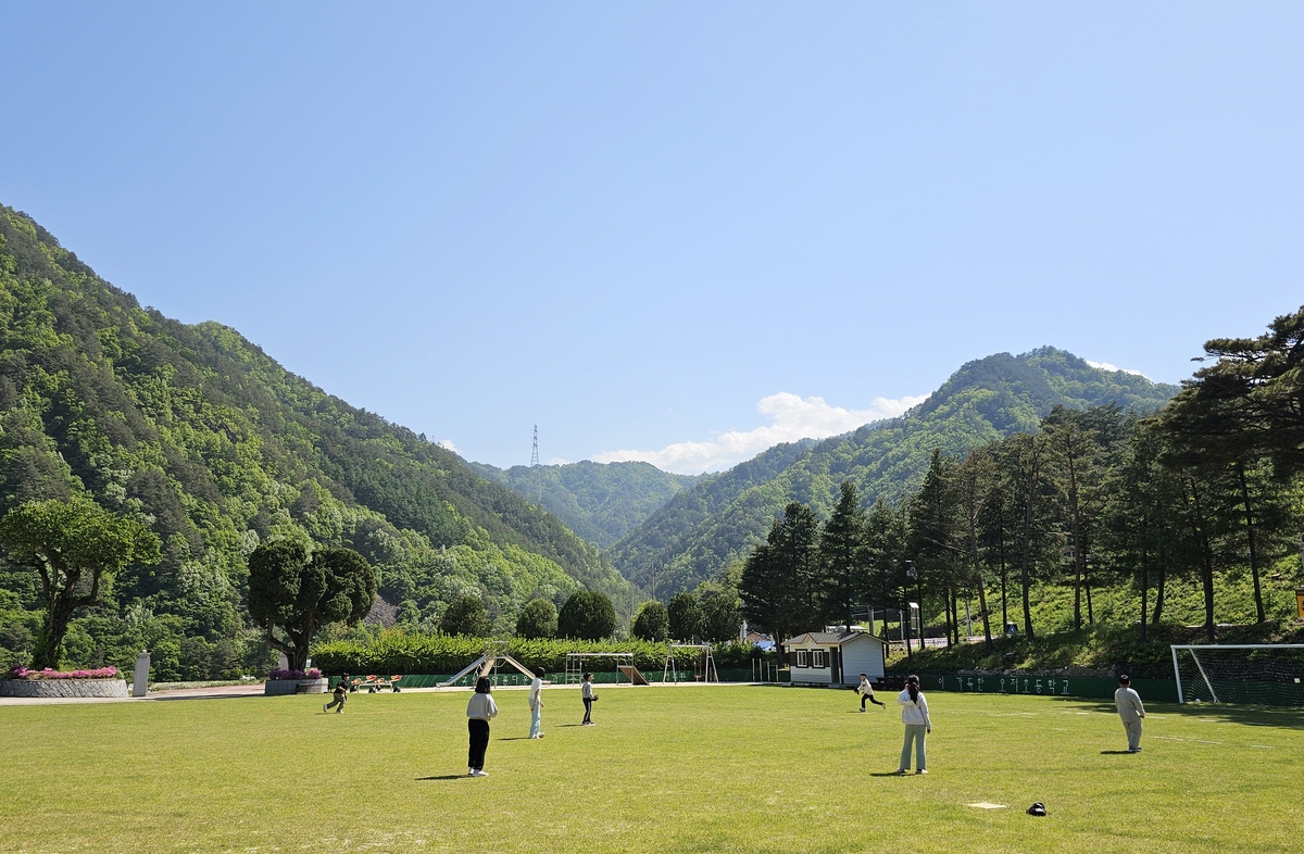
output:
[[[243, 601], [267, 537], [356, 549], [409, 622], [463, 592], [514, 623], [582, 585], [622, 609], [627, 582], [554, 515], [424, 435], [334, 398], [235, 330], [188, 326], [98, 278], [0, 207], [0, 514], [86, 493], [145, 522], [162, 565], [120, 575], [67, 639], [72, 664], [207, 678], [266, 655]], [[0, 567], [0, 664], [21, 664], [30, 572]]]

